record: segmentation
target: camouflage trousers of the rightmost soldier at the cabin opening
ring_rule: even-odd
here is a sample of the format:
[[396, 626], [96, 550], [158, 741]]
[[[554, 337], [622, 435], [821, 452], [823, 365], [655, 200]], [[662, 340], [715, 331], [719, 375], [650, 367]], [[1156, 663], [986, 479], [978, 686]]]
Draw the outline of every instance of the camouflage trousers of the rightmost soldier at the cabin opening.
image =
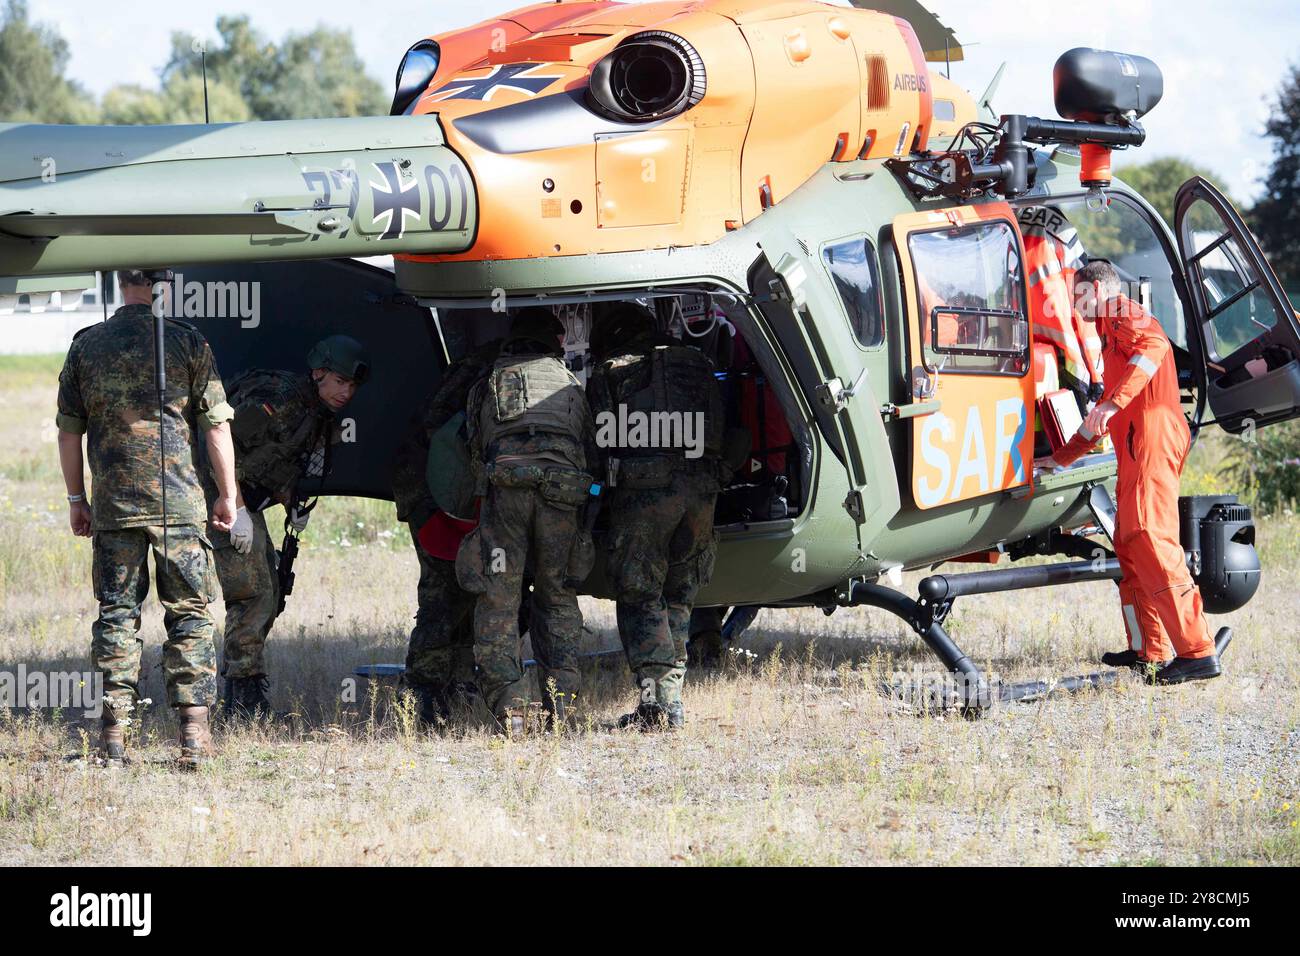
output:
[[645, 704], [681, 701], [696, 594], [714, 572], [718, 484], [675, 472], [666, 488], [615, 488], [608, 576], [619, 637]]

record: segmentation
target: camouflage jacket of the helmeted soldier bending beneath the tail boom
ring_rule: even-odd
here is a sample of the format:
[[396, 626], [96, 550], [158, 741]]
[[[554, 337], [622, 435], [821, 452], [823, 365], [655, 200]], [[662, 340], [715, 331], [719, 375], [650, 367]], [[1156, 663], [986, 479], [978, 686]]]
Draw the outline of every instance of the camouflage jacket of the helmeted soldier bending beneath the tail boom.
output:
[[[311, 376], [251, 368], [231, 378], [228, 390], [244, 505], [256, 509], [268, 498], [289, 505], [295, 490], [311, 493], [328, 471], [328, 446], [341, 440], [334, 412], [320, 401]], [[307, 486], [299, 489], [304, 479]]]

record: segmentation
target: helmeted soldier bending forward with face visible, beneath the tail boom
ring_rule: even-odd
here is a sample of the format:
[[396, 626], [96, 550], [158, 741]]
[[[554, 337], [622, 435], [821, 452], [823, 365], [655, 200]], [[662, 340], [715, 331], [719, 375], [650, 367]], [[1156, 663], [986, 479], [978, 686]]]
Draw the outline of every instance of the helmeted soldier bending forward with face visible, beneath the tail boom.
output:
[[[283, 505], [287, 528], [298, 533], [307, 527], [302, 502], [312, 483], [324, 483], [329, 449], [341, 440], [337, 414], [365, 382], [369, 369], [356, 339], [330, 336], [307, 354], [306, 371], [254, 368], [229, 382], [239, 499], [229, 533], [212, 536], [226, 602], [221, 676], [226, 679], [228, 714], [272, 713], [265, 648], [280, 609], [280, 580], [263, 511]], [[204, 490], [216, 493], [211, 479]]]

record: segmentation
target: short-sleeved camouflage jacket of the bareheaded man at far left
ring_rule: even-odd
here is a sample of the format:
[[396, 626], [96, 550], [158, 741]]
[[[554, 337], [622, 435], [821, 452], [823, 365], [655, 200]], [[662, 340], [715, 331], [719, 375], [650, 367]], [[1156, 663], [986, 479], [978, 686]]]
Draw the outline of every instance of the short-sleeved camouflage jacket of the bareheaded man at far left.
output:
[[64, 432], [86, 436], [95, 531], [162, 524], [164, 480], [168, 524], [207, 519], [196, 425], [214, 428], [234, 412], [198, 329], [169, 319], [164, 343], [161, 446], [148, 306], [124, 306], [108, 321], [78, 332], [58, 373], [55, 421]]

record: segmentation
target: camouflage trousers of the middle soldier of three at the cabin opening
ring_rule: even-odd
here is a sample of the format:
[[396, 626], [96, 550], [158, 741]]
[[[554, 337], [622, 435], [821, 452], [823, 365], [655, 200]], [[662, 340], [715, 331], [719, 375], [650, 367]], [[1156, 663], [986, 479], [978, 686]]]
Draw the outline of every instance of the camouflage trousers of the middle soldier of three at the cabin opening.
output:
[[[529, 635], [537, 658], [542, 705], [567, 706], [581, 687], [578, 640], [582, 613], [569, 579], [578, 536], [578, 510], [547, 501], [536, 488], [490, 484], [478, 527], [460, 545], [456, 578], [478, 593], [474, 605], [474, 661], [478, 688], [493, 713], [528, 702], [520, 661], [519, 606], [525, 567], [533, 575]], [[586, 568], [589, 571], [590, 567]]]

